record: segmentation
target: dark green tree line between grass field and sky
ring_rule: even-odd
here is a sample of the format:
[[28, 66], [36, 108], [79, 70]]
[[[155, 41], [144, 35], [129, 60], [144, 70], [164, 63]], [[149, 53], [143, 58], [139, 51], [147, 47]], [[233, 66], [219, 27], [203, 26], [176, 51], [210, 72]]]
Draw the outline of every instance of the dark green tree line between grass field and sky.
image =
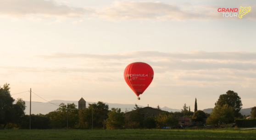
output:
[[[0, 87], [0, 128], [29, 128], [29, 115], [25, 115], [26, 104], [22, 99], [14, 99], [10, 95], [9, 84]], [[59, 108], [48, 114], [32, 114], [32, 129], [140, 129], [162, 128], [164, 126], [178, 127], [177, 117], [190, 117], [193, 121], [204, 121], [206, 124], [219, 125], [220, 123], [233, 123], [235, 119], [243, 118], [239, 113], [242, 108], [238, 93], [228, 91], [220, 95], [211, 114], [197, 110], [195, 99], [195, 112], [190, 106], [184, 104], [181, 112], [163, 111], [161, 114], [145, 119], [141, 108], [135, 104], [133, 111], [121, 112], [121, 109], [109, 109], [108, 104], [101, 101], [85, 109], [77, 109], [73, 104], [61, 103]], [[156, 109], [160, 109], [159, 105]], [[160, 109], [161, 110], [161, 109]], [[256, 107], [252, 108], [251, 116], [256, 117]]]

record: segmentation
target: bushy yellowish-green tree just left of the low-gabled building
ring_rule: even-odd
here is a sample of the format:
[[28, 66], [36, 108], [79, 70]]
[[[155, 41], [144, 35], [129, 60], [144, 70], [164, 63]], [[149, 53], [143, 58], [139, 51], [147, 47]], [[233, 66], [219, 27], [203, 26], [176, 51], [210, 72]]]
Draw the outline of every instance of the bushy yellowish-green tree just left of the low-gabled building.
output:
[[108, 130], [122, 129], [125, 124], [124, 119], [124, 114], [121, 112], [121, 109], [112, 108], [108, 113], [108, 119], [106, 119], [106, 128]]

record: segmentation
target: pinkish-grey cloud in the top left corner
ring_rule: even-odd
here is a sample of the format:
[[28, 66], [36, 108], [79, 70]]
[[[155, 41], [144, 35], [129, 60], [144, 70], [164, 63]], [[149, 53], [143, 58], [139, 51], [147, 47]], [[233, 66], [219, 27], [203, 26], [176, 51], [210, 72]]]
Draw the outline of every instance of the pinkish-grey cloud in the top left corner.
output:
[[53, 0], [0, 0], [0, 15], [11, 17], [79, 17], [88, 10], [82, 7], [58, 5]]

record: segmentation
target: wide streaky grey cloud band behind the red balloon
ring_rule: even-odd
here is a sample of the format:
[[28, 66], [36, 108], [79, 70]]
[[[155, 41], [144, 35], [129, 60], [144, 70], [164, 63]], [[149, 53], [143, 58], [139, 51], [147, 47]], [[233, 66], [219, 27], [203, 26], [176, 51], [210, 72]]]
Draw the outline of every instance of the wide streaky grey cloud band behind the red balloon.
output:
[[[155, 52], [116, 54], [54, 53], [33, 58], [33, 67], [6, 64], [2, 73], [42, 73], [38, 77], [123, 82], [123, 70], [132, 62], [146, 62], [154, 69], [155, 86], [245, 85], [256, 82], [256, 54], [253, 52]], [[43, 61], [42, 61], [43, 59]], [[191, 83], [191, 84], [190, 84]]]

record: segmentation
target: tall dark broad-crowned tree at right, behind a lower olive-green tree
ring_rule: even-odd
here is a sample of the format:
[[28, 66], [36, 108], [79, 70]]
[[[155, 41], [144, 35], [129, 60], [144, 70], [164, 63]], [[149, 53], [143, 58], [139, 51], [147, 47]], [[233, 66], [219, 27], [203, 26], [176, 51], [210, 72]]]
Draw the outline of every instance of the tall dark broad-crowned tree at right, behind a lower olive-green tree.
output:
[[235, 117], [241, 116], [239, 111], [242, 109], [243, 104], [241, 98], [238, 96], [238, 93], [228, 90], [226, 94], [220, 95], [219, 99], [215, 103], [215, 106], [222, 107], [224, 104], [228, 104], [229, 107], [233, 108]]

